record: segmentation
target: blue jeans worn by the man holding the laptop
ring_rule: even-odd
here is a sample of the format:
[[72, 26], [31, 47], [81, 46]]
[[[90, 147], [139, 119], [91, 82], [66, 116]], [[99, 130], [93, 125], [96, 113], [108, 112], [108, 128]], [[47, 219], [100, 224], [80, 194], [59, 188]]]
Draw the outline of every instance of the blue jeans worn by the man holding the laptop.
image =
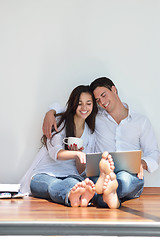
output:
[[[137, 174], [131, 174], [126, 171], [118, 172], [116, 177], [118, 181], [117, 195], [120, 202], [140, 197], [144, 187], [144, 179], [141, 180], [137, 177]], [[96, 183], [98, 177], [90, 177], [90, 179]], [[95, 194], [93, 203], [99, 207], [107, 207], [107, 204], [103, 201], [102, 194]]]

